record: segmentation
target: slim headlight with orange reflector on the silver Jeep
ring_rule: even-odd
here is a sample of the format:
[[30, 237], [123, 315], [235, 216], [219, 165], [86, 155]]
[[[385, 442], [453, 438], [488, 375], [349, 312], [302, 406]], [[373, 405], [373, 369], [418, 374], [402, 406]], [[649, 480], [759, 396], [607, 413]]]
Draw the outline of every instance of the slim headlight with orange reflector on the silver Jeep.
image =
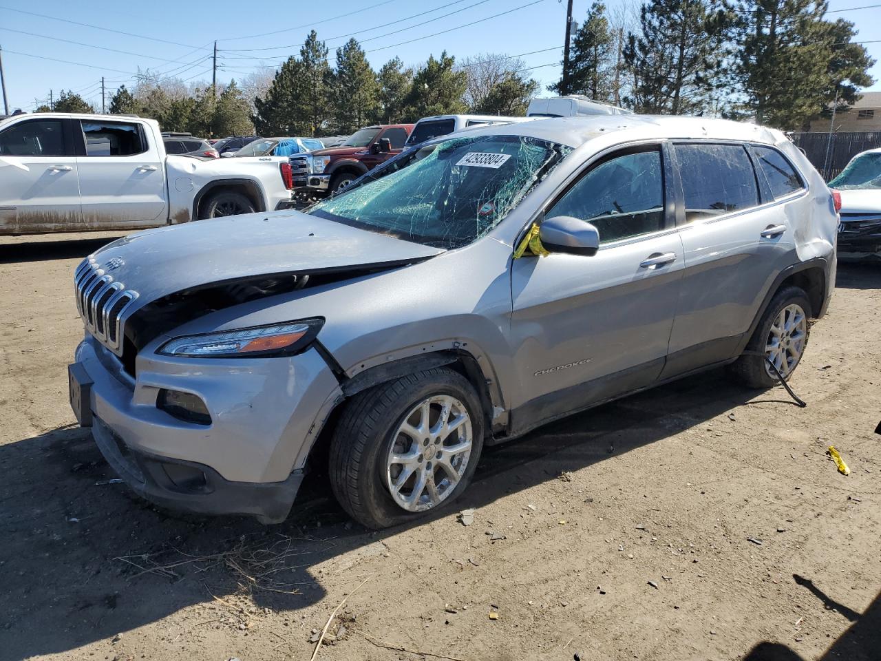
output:
[[305, 319], [241, 331], [189, 335], [169, 340], [159, 348], [159, 353], [179, 358], [290, 356], [305, 349], [323, 323], [323, 319]]

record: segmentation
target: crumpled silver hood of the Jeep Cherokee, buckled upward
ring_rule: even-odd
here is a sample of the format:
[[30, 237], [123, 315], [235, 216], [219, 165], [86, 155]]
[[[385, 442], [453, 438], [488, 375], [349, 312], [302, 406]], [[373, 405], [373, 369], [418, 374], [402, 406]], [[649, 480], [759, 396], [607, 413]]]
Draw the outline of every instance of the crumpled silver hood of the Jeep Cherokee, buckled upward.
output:
[[141, 308], [170, 293], [211, 283], [393, 266], [442, 252], [292, 211], [147, 230], [109, 243], [90, 259], [137, 292], [134, 308]]

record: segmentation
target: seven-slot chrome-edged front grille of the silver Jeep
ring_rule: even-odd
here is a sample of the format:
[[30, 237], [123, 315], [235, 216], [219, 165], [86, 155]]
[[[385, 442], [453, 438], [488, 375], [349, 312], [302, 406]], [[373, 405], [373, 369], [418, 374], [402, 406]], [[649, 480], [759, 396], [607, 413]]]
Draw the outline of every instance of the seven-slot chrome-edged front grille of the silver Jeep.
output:
[[93, 257], [79, 264], [73, 276], [77, 309], [85, 328], [102, 345], [122, 356], [122, 324], [137, 292], [101, 269]]

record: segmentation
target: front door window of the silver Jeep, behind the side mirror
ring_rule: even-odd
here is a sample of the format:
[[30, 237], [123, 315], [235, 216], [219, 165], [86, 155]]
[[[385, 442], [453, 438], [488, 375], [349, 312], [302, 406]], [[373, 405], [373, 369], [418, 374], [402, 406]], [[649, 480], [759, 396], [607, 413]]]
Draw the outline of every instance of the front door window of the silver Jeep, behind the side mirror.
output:
[[545, 218], [572, 216], [591, 223], [600, 242], [620, 241], [664, 227], [661, 152], [612, 156], [592, 167], [566, 191]]

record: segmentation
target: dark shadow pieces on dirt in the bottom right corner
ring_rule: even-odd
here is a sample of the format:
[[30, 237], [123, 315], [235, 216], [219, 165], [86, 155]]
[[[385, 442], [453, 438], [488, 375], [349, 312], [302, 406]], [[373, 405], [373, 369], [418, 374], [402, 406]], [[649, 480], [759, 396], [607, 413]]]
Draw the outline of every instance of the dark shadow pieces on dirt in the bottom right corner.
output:
[[[875, 661], [881, 654], [881, 592], [869, 605], [865, 613], [859, 614], [840, 605], [825, 595], [814, 584], [802, 576], [793, 576], [796, 583], [811, 590], [825, 608], [834, 608], [854, 622], [840, 635], [817, 661]], [[760, 642], [744, 657], [744, 661], [806, 661], [795, 650], [780, 642]]]

